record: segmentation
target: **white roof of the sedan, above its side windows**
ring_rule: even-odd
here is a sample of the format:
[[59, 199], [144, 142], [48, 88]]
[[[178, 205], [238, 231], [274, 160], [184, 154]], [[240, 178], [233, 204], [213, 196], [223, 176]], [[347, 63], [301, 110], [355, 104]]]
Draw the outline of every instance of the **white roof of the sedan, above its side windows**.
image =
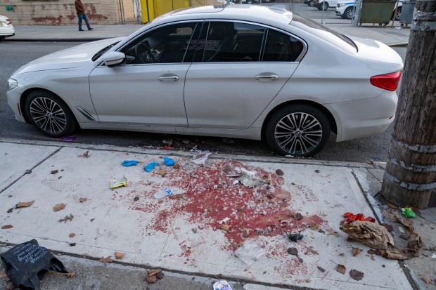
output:
[[[165, 22], [186, 19], [231, 19], [247, 20], [266, 23], [280, 23], [288, 25], [293, 13], [286, 10], [284, 5], [258, 6], [247, 4], [211, 5], [191, 8], [182, 8], [160, 17]], [[176, 20], [176, 19], [174, 19]]]

